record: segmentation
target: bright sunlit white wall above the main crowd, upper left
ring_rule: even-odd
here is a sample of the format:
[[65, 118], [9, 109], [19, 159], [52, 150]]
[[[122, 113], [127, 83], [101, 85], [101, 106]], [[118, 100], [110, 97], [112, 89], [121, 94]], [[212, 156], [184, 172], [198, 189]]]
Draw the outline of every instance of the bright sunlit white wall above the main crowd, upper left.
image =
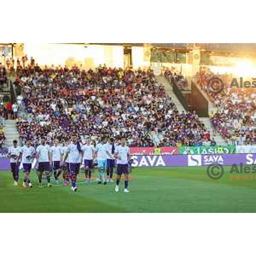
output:
[[76, 64], [85, 69], [100, 64], [108, 67], [123, 67], [123, 47], [116, 45], [84, 44], [24, 44], [24, 53], [28, 58], [35, 58], [40, 65], [69, 67]]

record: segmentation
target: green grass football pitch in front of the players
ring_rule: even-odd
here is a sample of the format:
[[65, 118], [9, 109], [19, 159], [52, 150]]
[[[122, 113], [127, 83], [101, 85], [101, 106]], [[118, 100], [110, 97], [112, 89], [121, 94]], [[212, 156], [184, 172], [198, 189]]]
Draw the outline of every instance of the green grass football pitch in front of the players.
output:
[[38, 187], [32, 172], [32, 189], [24, 189], [20, 172], [13, 187], [11, 172], [0, 172], [0, 212], [256, 212], [256, 175], [230, 180], [224, 167], [220, 180], [211, 180], [207, 167], [151, 167], [134, 169], [129, 194], [114, 192], [115, 184], [79, 183], [70, 187]]

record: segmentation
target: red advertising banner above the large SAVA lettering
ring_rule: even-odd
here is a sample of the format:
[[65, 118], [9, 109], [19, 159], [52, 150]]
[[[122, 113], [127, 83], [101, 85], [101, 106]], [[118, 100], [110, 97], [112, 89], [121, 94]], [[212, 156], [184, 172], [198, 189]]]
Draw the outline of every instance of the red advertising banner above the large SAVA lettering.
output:
[[[131, 155], [154, 155], [154, 149], [155, 148], [153, 147], [146, 147], [146, 148], [132, 147], [130, 148], [130, 154]], [[160, 154], [161, 155], [177, 155], [178, 148], [177, 147], [160, 147]]]

